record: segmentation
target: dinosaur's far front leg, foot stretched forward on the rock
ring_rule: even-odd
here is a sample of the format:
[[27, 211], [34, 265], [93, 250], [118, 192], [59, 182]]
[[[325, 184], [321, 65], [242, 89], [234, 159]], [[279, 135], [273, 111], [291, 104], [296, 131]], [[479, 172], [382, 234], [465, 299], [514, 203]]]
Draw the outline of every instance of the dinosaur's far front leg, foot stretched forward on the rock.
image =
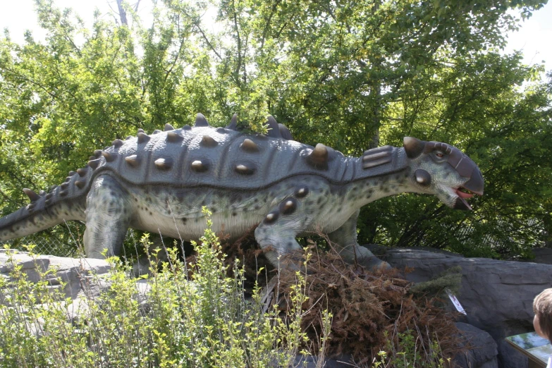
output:
[[367, 269], [390, 268], [387, 262], [374, 256], [372, 252], [357, 243], [357, 219], [359, 211], [356, 211], [350, 218], [343, 223], [336, 231], [328, 234], [331, 243], [335, 244], [339, 254], [347, 263], [353, 264], [355, 261]]

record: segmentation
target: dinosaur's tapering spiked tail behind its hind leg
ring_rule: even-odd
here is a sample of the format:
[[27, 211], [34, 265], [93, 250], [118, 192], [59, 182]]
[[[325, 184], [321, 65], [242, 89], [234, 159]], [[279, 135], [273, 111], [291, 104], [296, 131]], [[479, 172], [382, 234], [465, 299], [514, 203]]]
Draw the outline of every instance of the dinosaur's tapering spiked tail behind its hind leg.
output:
[[31, 203], [0, 218], [0, 241], [37, 233], [69, 220], [84, 221], [85, 196], [64, 198], [60, 187], [47, 195], [24, 189]]

